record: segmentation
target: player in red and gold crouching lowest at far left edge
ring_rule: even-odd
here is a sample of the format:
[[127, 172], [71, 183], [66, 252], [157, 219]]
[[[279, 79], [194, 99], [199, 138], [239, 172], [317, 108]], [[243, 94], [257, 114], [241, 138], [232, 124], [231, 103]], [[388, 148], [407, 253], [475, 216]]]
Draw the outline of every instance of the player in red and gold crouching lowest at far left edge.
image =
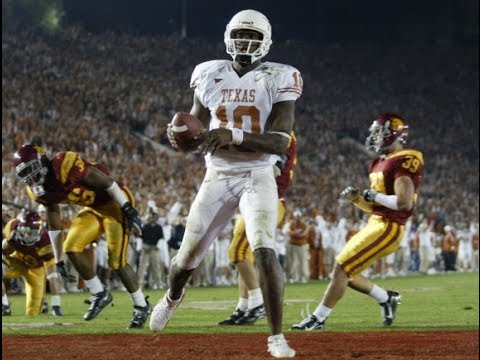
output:
[[[26, 315], [40, 314], [45, 297], [46, 277], [52, 295], [52, 314], [62, 316], [61, 285], [52, 244], [47, 230], [42, 225], [40, 215], [30, 211], [20, 219], [10, 220], [3, 229], [3, 236], [2, 255], [6, 257], [3, 277], [13, 279], [23, 276], [25, 278]], [[10, 311], [5, 315], [10, 315]]]

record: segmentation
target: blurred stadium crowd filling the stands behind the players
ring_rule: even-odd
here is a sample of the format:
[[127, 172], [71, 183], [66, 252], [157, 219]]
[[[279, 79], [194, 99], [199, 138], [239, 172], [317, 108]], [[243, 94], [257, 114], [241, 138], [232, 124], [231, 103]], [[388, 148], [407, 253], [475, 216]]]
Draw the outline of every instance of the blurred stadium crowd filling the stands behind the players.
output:
[[[152, 209], [164, 226], [181, 221], [203, 177], [204, 163], [198, 155], [169, 147], [166, 124], [177, 111], [190, 109], [193, 67], [215, 56], [226, 58], [222, 39], [90, 34], [70, 28], [56, 35], [7, 32], [2, 35], [2, 50], [2, 199], [9, 206], [2, 207], [4, 220], [21, 207], [36, 209], [16, 183], [11, 164], [17, 148], [36, 142], [48, 155], [73, 150], [102, 162], [134, 191], [143, 214]], [[408, 249], [414, 253], [414, 235], [427, 231], [425, 227], [435, 232], [438, 226], [442, 235], [447, 225], [468, 230], [472, 236], [476, 232], [477, 247], [472, 245], [469, 252], [476, 251], [476, 268], [461, 268], [478, 271], [478, 53], [474, 51], [478, 50], [469, 46], [453, 51], [425, 44], [407, 48], [275, 43], [267, 60], [295, 66], [304, 79], [295, 125], [299, 160], [287, 196], [290, 217], [300, 209], [303, 221], [320, 228], [331, 219], [330, 226], [343, 226], [344, 235], [364, 221], [338, 195], [347, 185], [368, 185], [366, 130], [376, 115], [398, 112], [409, 122], [409, 145], [425, 158]], [[64, 208], [67, 222], [73, 210]], [[166, 241], [168, 234], [167, 229]], [[285, 249], [287, 234], [284, 230], [279, 235], [285, 237]], [[346, 235], [338, 241], [345, 240]], [[140, 253], [141, 247], [136, 250]], [[288, 263], [286, 250], [282, 252]], [[423, 270], [445, 269], [435, 254], [429, 255], [432, 264]], [[409, 262], [406, 270], [420, 271], [422, 266], [425, 261], [418, 266]], [[300, 281], [297, 275], [287, 271], [286, 276]], [[328, 271], [318, 275], [326, 276]], [[160, 281], [157, 286], [165, 284]]]

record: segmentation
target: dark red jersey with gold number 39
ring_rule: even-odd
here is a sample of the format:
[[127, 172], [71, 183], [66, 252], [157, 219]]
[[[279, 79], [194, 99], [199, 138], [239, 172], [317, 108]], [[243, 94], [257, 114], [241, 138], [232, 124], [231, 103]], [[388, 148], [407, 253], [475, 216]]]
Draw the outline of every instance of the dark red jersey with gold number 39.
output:
[[[417, 202], [418, 187], [423, 174], [423, 154], [414, 149], [404, 149], [372, 161], [369, 167], [370, 187], [385, 195], [394, 195], [394, 183], [400, 176], [408, 176], [414, 186], [413, 203]], [[413, 207], [407, 211], [392, 210], [375, 203], [373, 214], [386, 217], [404, 225], [412, 215]]]

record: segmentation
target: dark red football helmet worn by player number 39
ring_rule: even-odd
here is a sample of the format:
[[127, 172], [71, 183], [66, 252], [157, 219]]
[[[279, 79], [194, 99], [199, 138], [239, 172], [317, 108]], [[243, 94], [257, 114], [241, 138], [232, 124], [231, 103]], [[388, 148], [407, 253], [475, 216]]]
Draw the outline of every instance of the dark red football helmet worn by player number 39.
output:
[[396, 114], [383, 114], [373, 121], [369, 132], [365, 141], [367, 149], [386, 153], [394, 143], [403, 145], [407, 142], [408, 125]]

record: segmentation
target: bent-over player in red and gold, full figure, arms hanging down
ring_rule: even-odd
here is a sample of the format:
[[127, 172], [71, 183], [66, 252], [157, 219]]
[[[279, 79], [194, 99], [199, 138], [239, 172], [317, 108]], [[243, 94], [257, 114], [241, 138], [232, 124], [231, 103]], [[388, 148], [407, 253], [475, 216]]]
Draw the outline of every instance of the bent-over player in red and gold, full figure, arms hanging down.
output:
[[[73, 151], [58, 152], [50, 160], [41, 147], [23, 145], [13, 155], [13, 164], [17, 180], [27, 185], [28, 195], [47, 209], [48, 234], [59, 273], [68, 277], [61, 261], [65, 252], [92, 294], [90, 307], [83, 318], [87, 321], [94, 319], [113, 300], [83, 254], [88, 244], [105, 234], [108, 264], [133, 302], [129, 328], [143, 328], [151, 306], [126, 260], [130, 232], [141, 235], [142, 229], [130, 190], [115, 181], [104, 166], [85, 161]], [[59, 204], [83, 207], [73, 219], [65, 238]]]

